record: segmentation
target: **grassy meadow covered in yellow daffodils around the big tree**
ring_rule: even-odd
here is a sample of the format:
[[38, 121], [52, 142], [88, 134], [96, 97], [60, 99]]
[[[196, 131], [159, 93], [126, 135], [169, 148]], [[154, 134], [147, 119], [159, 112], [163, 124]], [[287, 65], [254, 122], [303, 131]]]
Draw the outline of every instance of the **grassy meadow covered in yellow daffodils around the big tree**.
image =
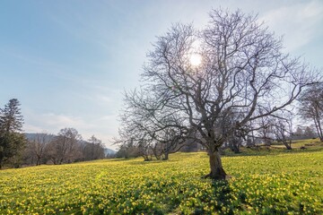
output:
[[205, 152], [0, 171], [0, 214], [322, 214], [323, 150], [223, 157]]

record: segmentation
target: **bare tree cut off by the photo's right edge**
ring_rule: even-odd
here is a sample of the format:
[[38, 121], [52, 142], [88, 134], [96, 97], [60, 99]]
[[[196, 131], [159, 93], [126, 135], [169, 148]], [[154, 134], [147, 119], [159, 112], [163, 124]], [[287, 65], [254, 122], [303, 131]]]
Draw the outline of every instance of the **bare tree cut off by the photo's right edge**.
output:
[[315, 84], [301, 93], [300, 114], [304, 119], [313, 121], [319, 140], [323, 142], [323, 83]]

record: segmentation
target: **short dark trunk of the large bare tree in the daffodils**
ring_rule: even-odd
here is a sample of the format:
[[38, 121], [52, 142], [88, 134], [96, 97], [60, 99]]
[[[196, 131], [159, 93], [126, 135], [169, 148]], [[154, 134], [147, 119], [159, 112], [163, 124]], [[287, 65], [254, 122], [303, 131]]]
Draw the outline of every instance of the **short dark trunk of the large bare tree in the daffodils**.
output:
[[208, 152], [208, 156], [211, 172], [210, 174], [206, 175], [205, 178], [210, 177], [215, 180], [224, 180], [227, 175], [223, 169], [219, 151], [215, 150], [214, 152]]

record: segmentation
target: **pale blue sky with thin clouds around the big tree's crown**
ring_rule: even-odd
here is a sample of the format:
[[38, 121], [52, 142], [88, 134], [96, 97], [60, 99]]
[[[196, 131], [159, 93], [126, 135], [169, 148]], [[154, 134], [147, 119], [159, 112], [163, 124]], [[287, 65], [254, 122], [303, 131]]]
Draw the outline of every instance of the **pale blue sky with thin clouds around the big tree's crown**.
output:
[[284, 50], [323, 67], [323, 1], [2, 0], [0, 106], [19, 99], [25, 132], [74, 127], [110, 146], [124, 90], [171, 23], [207, 23], [212, 8], [258, 13]]

